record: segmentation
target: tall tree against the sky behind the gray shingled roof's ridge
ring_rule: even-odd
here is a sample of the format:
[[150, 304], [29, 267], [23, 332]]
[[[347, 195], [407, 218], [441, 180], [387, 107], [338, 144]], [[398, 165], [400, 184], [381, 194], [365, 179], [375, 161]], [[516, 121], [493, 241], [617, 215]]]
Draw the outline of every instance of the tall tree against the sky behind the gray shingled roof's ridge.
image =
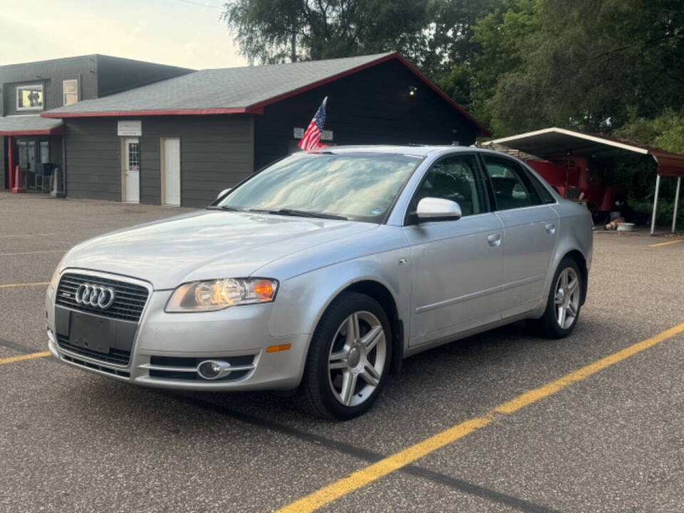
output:
[[430, 0], [231, 0], [222, 19], [250, 63], [383, 51], [420, 56]]

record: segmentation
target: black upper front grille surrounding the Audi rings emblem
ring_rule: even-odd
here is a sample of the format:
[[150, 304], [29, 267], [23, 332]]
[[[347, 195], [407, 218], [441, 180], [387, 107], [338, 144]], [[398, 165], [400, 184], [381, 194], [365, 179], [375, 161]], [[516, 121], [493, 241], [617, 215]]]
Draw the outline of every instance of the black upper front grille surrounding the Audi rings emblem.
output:
[[[81, 284], [108, 286], [114, 289], [115, 299], [106, 310], [97, 306], [86, 306], [76, 303], [76, 289]], [[144, 286], [134, 285], [128, 281], [120, 281], [87, 274], [66, 273], [57, 287], [56, 304], [68, 308], [98, 314], [104, 317], [118, 318], [123, 321], [140, 321], [142, 309], [147, 302], [148, 291]]]

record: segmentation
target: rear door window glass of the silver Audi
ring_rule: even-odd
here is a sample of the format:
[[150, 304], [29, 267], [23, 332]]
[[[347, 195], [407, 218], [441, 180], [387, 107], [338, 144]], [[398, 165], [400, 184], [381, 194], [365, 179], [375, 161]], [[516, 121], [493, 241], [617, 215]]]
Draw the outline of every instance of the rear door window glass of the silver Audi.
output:
[[497, 209], [509, 210], [541, 204], [537, 191], [517, 162], [482, 155], [489, 180], [494, 188]]

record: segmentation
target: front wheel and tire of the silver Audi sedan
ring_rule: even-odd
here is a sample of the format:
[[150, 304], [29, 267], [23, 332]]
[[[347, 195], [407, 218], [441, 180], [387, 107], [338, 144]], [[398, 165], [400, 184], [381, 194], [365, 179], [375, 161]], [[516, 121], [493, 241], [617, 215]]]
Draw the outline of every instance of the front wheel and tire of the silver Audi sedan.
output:
[[293, 400], [311, 415], [358, 417], [380, 395], [391, 361], [392, 333], [382, 306], [365, 294], [345, 292], [318, 321]]

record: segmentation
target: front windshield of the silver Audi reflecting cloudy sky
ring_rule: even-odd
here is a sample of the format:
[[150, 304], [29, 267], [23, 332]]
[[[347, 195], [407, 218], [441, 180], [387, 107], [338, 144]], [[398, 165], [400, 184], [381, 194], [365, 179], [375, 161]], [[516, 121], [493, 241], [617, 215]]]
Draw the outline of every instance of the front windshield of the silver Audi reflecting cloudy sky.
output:
[[266, 167], [217, 206], [381, 222], [422, 160], [393, 153], [298, 153]]

